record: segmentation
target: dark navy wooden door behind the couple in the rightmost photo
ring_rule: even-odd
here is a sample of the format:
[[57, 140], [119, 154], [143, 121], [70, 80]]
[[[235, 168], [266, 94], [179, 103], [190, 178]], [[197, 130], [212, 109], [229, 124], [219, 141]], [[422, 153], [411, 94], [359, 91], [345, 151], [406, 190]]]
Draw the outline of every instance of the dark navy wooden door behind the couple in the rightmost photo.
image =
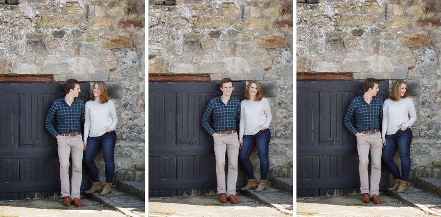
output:
[[[362, 83], [297, 82], [297, 197], [360, 191], [357, 141], [343, 118], [351, 100], [363, 95]], [[388, 82], [380, 81], [379, 89], [377, 96], [384, 101], [389, 96]], [[384, 163], [381, 168], [380, 190], [385, 190], [389, 171]]]

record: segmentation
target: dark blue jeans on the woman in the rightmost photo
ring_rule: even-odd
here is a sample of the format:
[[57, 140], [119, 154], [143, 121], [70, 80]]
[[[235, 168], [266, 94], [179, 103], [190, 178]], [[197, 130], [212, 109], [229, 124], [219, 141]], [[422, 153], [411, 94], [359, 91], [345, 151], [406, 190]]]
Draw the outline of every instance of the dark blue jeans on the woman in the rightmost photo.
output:
[[[401, 179], [407, 181], [410, 174], [410, 145], [412, 142], [412, 130], [410, 128], [404, 131], [398, 129], [395, 134], [386, 135], [386, 146], [383, 148], [382, 159], [386, 164], [386, 167], [391, 171], [394, 179]], [[398, 170], [395, 162], [392, 160], [395, 154], [396, 148], [400, 154], [401, 160], [401, 173]]]

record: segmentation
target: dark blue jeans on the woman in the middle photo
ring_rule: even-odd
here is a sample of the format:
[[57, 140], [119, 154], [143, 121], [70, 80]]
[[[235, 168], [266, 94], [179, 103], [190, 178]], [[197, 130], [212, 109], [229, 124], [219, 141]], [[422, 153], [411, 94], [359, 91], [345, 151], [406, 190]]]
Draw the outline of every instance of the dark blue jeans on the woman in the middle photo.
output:
[[239, 150], [239, 159], [245, 169], [245, 174], [248, 179], [254, 179], [254, 169], [249, 156], [254, 146], [257, 147], [257, 155], [260, 160], [260, 179], [267, 180], [270, 172], [270, 159], [268, 152], [270, 149], [270, 129], [261, 130], [254, 135], [244, 135], [242, 147]]

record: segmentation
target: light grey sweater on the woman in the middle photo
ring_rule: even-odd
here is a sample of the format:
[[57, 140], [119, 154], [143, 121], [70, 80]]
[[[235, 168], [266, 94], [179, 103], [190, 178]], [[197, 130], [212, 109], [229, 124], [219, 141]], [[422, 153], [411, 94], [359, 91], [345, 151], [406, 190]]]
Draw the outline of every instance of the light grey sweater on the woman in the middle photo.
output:
[[254, 135], [260, 131], [260, 126], [270, 128], [271, 109], [268, 99], [260, 101], [244, 99], [241, 102], [241, 121], [239, 123], [239, 138]]

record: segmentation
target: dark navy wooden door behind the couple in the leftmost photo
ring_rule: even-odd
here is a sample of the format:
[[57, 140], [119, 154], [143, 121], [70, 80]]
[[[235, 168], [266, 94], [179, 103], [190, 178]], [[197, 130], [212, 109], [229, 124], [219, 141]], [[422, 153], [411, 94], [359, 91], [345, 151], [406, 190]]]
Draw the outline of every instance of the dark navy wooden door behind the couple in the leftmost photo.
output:
[[[89, 84], [80, 89], [79, 98], [87, 101]], [[0, 84], [0, 200], [61, 196], [57, 142], [44, 121], [52, 102], [63, 96], [63, 83]], [[83, 166], [81, 189], [89, 187]]]

